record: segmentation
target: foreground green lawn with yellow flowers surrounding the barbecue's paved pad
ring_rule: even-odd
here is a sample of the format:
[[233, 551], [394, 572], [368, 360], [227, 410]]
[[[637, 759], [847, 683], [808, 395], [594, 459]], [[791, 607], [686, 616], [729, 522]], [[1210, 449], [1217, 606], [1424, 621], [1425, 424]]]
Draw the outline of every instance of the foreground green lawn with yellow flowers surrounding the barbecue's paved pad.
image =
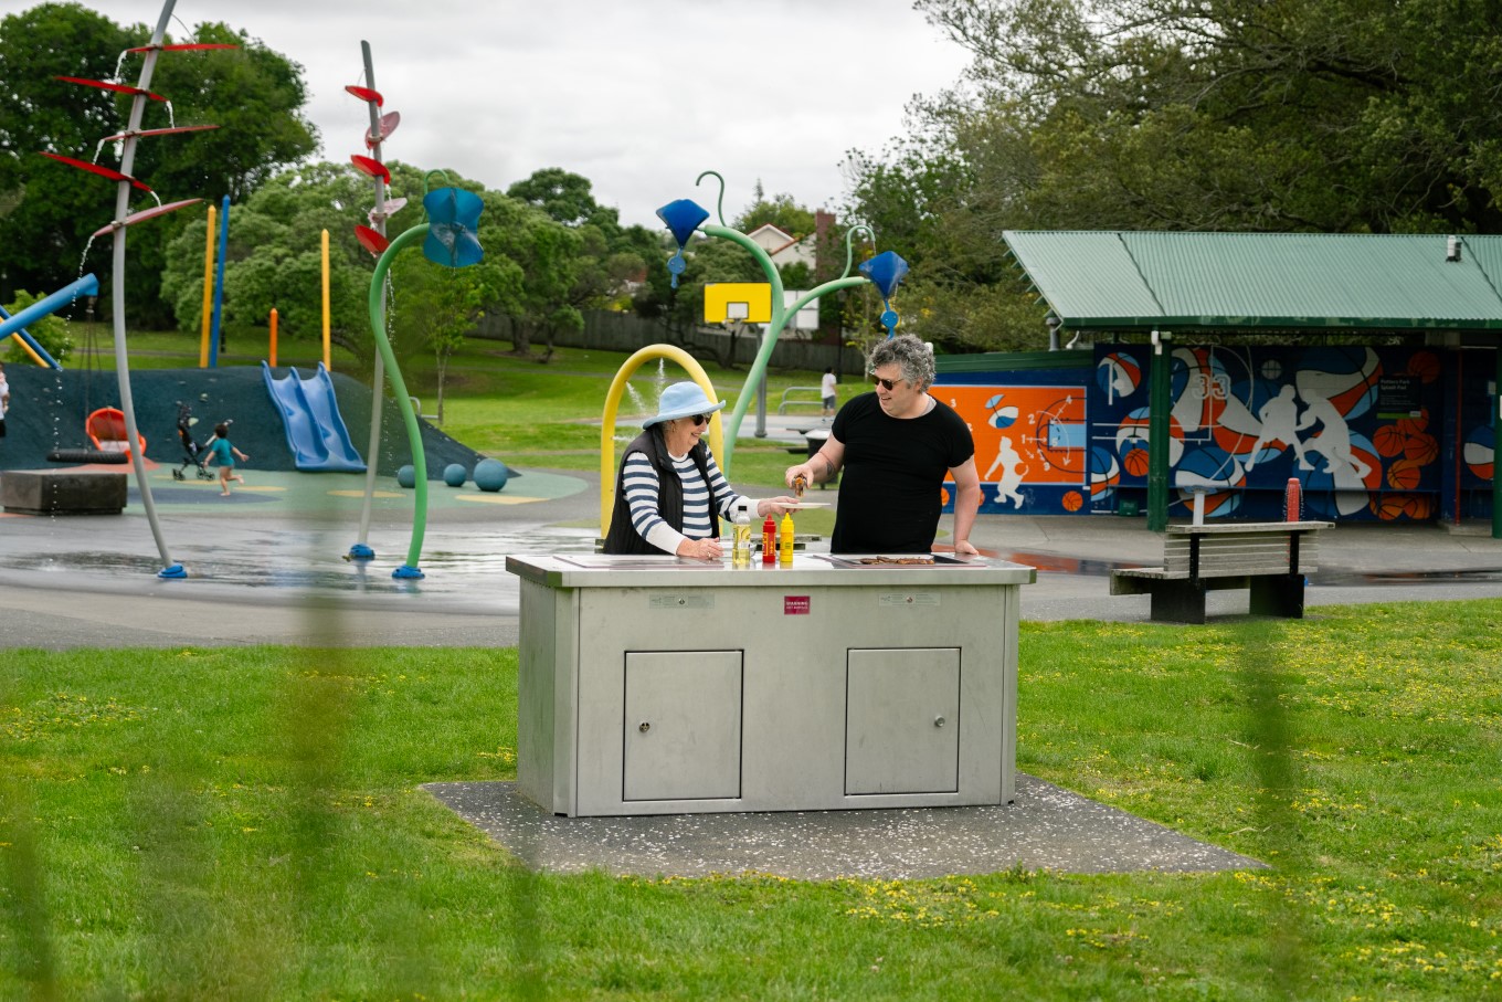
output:
[[530, 874], [515, 650], [6, 652], [6, 999], [1502, 997], [1502, 602], [1023, 623], [1018, 766], [1266, 871]]

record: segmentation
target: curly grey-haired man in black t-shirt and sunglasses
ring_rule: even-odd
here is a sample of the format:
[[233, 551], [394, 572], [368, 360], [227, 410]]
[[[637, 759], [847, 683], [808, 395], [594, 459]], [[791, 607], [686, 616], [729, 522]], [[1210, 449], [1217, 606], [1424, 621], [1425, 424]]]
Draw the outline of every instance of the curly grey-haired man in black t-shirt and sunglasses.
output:
[[928, 395], [933, 353], [910, 333], [876, 346], [867, 362], [876, 392], [835, 415], [825, 446], [787, 469], [819, 484], [844, 467], [831, 553], [930, 553], [943, 509], [945, 473], [954, 476], [954, 550], [975, 554], [970, 527], [981, 506], [975, 440], [954, 410]]

